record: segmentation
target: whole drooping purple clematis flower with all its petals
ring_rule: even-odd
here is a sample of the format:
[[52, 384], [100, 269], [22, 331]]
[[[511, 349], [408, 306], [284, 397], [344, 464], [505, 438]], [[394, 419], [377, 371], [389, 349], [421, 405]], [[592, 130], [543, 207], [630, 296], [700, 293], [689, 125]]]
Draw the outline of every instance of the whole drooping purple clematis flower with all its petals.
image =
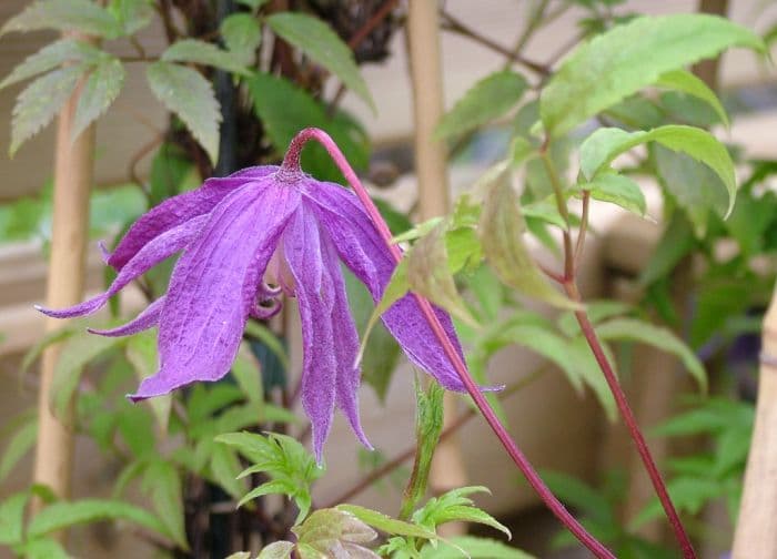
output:
[[[209, 179], [141, 216], [115, 251], [105, 254], [119, 273], [107, 292], [61, 311], [38, 308], [58, 318], [94, 313], [134, 278], [179, 252], [165, 296], [123, 326], [90, 331], [124, 336], [159, 325], [159, 372], [130, 398], [141, 400], [223, 377], [248, 317], [278, 313], [279, 296], [285, 293], [297, 298], [302, 318], [301, 398], [312, 423], [316, 459], [321, 460], [335, 407], [370, 447], [359, 418], [359, 337], [340, 263], [376, 302], [396, 264], [354, 193], [302, 173], [296, 162]], [[435, 313], [463, 358], [451, 318], [440, 309]], [[411, 295], [397, 301], [382, 319], [414, 364], [445, 388], [465, 390]]]

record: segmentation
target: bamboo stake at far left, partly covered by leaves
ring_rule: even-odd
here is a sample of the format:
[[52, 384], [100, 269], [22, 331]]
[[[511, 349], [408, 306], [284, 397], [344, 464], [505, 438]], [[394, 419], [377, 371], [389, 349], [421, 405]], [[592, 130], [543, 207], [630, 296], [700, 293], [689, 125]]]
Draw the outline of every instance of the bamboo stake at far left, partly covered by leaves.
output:
[[[83, 295], [89, 191], [94, 167], [94, 125], [71, 141], [80, 93], [81, 87], [68, 100], [58, 121], [51, 257], [46, 294], [49, 308], [74, 305]], [[61, 326], [61, 321], [47, 319], [47, 331]], [[70, 492], [73, 436], [68, 418], [60, 420], [50, 408], [51, 382], [58, 355], [59, 348], [52, 346], [42, 357], [33, 479], [36, 484], [49, 486], [59, 497], [67, 498]]]

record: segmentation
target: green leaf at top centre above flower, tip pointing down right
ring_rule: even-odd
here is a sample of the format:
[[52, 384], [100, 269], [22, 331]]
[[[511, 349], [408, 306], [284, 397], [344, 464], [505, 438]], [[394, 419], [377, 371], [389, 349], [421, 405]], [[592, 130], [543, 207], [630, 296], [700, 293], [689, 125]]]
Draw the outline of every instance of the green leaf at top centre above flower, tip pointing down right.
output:
[[353, 52], [326, 23], [301, 12], [274, 13], [266, 19], [266, 23], [281, 39], [340, 78], [346, 88], [375, 111], [375, 102]]

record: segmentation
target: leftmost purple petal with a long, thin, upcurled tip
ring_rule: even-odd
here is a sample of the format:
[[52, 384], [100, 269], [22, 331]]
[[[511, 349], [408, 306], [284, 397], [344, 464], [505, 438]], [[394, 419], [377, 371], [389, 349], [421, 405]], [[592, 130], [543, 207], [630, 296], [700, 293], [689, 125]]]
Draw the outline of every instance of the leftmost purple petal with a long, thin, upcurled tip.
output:
[[70, 318], [72, 316], [83, 316], [99, 311], [109, 298], [119, 293], [127, 284], [135, 277], [144, 274], [149, 268], [159, 264], [172, 254], [181, 251], [184, 246], [192, 242], [199, 234], [202, 225], [208, 220], [206, 215], [199, 215], [188, 222], [182, 223], [173, 228], [170, 228], [161, 235], [154, 237], [138, 251], [132, 260], [128, 262], [119, 272], [113, 283], [107, 292], [84, 301], [83, 303], [62, 309], [51, 309], [41, 306], [36, 306], [41, 313], [53, 316], [56, 318]]

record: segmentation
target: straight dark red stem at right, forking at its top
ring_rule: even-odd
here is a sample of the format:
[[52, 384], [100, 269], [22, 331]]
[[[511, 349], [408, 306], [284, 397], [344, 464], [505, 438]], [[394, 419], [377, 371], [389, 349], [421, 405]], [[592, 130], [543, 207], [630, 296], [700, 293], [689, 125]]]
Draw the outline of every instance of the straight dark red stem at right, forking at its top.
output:
[[[567, 295], [572, 301], [582, 303], [583, 297], [581, 296], [581, 293], [577, 289], [577, 283], [575, 281], [575, 277], [577, 275], [577, 267], [579, 265], [579, 256], [583, 253], [583, 245], [585, 243], [585, 234], [586, 228], [588, 226], [588, 205], [591, 201], [588, 193], [585, 193], [583, 197], [583, 216], [581, 222], [581, 228], [576, 246], [573, 248], [572, 235], [569, 233], [569, 213], [566, 206], [564, 189], [558, 179], [558, 174], [556, 173], [553, 161], [548, 154], [548, 141], [546, 141], [543, 144], [543, 148], [541, 150], [541, 156], [545, 166], [545, 171], [547, 171], [547, 174], [551, 179], [551, 184], [553, 185], [558, 213], [562, 214], [564, 221], [567, 224], [566, 228], [563, 232], [564, 275], [548, 275], [564, 286], [564, 291], [566, 291]], [[596, 363], [602, 369], [602, 374], [604, 375], [605, 380], [607, 382], [609, 392], [613, 393], [615, 403], [618, 407], [618, 411], [620, 413], [620, 417], [623, 417], [624, 421], [626, 423], [626, 427], [628, 428], [628, 433], [632, 437], [632, 440], [634, 440], [634, 444], [637, 447], [639, 458], [642, 459], [643, 465], [645, 466], [645, 470], [647, 471], [647, 475], [650, 478], [650, 482], [653, 484], [653, 488], [655, 489], [656, 495], [658, 496], [658, 500], [660, 500], [662, 507], [664, 508], [664, 512], [666, 514], [666, 517], [668, 518], [669, 524], [672, 525], [672, 529], [675, 532], [675, 538], [677, 538], [677, 542], [679, 543], [680, 549], [683, 550], [683, 557], [685, 559], [696, 559], [696, 553], [694, 552], [694, 547], [690, 543], [690, 539], [688, 538], [688, 535], [686, 533], [685, 528], [683, 527], [683, 522], [679, 519], [679, 515], [677, 515], [677, 510], [675, 509], [675, 506], [672, 502], [672, 499], [669, 498], [669, 494], [666, 489], [666, 484], [664, 482], [664, 479], [662, 478], [662, 475], [658, 471], [656, 461], [653, 459], [653, 455], [650, 454], [650, 449], [648, 448], [647, 443], [645, 443], [645, 437], [643, 436], [642, 430], [637, 425], [637, 420], [634, 417], [634, 411], [632, 411], [632, 407], [628, 405], [626, 394], [624, 394], [623, 388], [620, 387], [620, 384], [618, 383], [618, 379], [615, 376], [615, 373], [613, 372], [613, 367], [609, 365], [609, 362], [607, 360], [607, 357], [604, 354], [602, 343], [596, 336], [594, 326], [588, 319], [588, 314], [585, 311], [577, 311], [575, 312], [575, 317], [577, 318], [577, 323], [579, 324], [581, 329], [583, 331], [583, 335], [585, 336], [585, 339], [588, 343], [588, 346], [591, 347], [594, 357], [596, 358]]]

